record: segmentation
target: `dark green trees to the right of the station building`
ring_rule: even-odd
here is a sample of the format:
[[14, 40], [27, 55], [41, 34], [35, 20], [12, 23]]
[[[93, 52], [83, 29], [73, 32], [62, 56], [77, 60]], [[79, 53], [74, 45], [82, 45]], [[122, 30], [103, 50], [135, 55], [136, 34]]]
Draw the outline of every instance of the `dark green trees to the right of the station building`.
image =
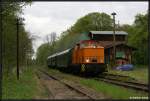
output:
[[123, 25], [121, 29], [127, 31], [128, 44], [137, 48], [133, 53], [135, 64], [148, 64], [148, 14], [137, 14], [133, 25]]

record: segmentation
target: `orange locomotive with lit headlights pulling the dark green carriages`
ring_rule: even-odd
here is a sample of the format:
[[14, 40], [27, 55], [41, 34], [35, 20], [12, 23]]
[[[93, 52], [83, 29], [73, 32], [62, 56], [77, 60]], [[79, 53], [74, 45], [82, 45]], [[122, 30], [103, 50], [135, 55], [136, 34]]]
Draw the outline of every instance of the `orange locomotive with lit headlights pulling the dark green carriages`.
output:
[[81, 41], [73, 50], [72, 64], [78, 65], [81, 72], [100, 73], [106, 71], [104, 47], [100, 46], [98, 41]]

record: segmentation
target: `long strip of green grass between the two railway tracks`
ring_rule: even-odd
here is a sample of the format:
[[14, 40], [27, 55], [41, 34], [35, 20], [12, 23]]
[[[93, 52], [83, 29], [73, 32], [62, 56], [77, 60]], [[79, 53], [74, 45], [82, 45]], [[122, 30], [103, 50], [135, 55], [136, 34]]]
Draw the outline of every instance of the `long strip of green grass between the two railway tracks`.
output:
[[48, 72], [54, 75], [59, 74], [58, 76], [68, 80], [76, 81], [84, 86], [94, 89], [97, 92], [103, 93], [104, 95], [111, 97], [112, 99], [129, 99], [129, 97], [133, 96], [148, 96], [148, 94], [145, 92], [137, 92], [135, 90], [126, 89], [124, 87], [116, 86], [102, 81], [96, 81], [92, 78], [87, 79], [70, 74], [64, 74], [62, 72], [59, 72], [58, 70], [53, 69], [49, 69]]

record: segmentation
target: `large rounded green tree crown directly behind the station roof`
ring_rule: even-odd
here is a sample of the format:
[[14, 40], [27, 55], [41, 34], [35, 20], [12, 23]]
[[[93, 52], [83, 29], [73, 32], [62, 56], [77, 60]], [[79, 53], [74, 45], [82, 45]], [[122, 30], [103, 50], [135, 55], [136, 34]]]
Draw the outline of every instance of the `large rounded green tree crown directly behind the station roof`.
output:
[[111, 17], [106, 13], [89, 13], [77, 20], [71, 28], [71, 33], [82, 33], [91, 30], [112, 30]]

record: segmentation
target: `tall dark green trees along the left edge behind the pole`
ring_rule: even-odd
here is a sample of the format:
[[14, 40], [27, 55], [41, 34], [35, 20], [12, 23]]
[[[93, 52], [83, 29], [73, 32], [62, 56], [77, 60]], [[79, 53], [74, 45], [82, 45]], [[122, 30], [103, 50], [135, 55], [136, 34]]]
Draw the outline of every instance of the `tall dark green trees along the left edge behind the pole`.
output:
[[[29, 0], [28, 0], [29, 1]], [[29, 4], [29, 2], [13, 2], [7, 0], [2, 3], [2, 56], [3, 56], [3, 70], [10, 73], [16, 66], [16, 19], [22, 14], [22, 7]], [[20, 23], [23, 23], [20, 21]], [[32, 39], [29, 32], [26, 32], [24, 25], [19, 25], [19, 63], [25, 65], [26, 60], [31, 60]]]

